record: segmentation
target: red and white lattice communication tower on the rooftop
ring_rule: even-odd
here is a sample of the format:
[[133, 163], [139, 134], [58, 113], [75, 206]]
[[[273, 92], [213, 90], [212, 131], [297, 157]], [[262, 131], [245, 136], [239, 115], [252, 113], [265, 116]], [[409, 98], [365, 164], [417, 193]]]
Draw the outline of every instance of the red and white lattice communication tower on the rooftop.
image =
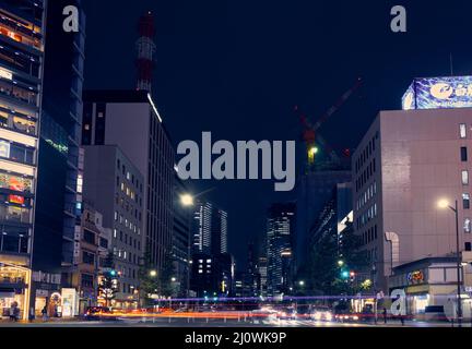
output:
[[137, 41], [138, 48], [138, 81], [137, 89], [143, 89], [151, 93], [154, 53], [156, 46], [154, 44], [154, 17], [151, 12], [142, 15], [139, 21], [140, 38]]

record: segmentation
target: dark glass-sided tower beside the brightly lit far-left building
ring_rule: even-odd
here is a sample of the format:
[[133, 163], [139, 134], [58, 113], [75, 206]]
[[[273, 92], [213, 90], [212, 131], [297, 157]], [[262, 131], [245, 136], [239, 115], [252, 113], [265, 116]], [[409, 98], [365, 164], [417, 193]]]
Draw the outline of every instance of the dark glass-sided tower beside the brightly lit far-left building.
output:
[[[80, 12], [79, 33], [62, 28], [67, 5]], [[60, 287], [71, 287], [75, 221], [81, 215], [79, 176], [85, 15], [81, 1], [55, 0], [47, 5], [44, 89], [33, 245], [33, 292], [42, 304]], [[57, 280], [62, 274], [62, 285]]]

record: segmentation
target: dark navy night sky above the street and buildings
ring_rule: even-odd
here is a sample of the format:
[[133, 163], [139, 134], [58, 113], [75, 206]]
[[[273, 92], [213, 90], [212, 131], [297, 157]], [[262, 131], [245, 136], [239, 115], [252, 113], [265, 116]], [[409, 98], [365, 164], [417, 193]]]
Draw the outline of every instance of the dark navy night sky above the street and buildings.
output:
[[[357, 76], [364, 86], [321, 132], [355, 147], [378, 110], [399, 109], [415, 76], [472, 74], [471, 1], [83, 0], [86, 88], [134, 88], [137, 22], [156, 20], [153, 95], [177, 144], [201, 139], [299, 140], [294, 105], [316, 119]], [[390, 31], [403, 4], [408, 33]], [[298, 156], [297, 161], [302, 164]], [[199, 181], [228, 210], [229, 250], [264, 230], [271, 202], [291, 198], [267, 181]], [[293, 194], [292, 194], [293, 196]]]

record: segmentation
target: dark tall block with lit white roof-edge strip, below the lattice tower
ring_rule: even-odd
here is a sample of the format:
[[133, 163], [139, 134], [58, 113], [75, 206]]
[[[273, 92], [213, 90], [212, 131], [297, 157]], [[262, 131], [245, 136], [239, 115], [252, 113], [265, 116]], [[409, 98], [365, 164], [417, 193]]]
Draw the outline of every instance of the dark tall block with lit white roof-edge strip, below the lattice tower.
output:
[[172, 250], [174, 149], [150, 94], [85, 92], [83, 145], [117, 145], [143, 176], [143, 241], [160, 269]]

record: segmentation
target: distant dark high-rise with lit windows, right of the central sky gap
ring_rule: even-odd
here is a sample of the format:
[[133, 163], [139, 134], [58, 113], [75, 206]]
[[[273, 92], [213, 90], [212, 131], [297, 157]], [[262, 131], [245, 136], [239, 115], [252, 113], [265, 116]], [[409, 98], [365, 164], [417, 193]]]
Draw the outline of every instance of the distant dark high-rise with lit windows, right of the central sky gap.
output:
[[295, 229], [295, 204], [276, 203], [268, 210], [267, 217], [267, 287], [268, 296], [284, 291], [285, 279], [284, 256], [292, 251], [292, 237]]

